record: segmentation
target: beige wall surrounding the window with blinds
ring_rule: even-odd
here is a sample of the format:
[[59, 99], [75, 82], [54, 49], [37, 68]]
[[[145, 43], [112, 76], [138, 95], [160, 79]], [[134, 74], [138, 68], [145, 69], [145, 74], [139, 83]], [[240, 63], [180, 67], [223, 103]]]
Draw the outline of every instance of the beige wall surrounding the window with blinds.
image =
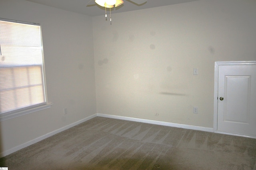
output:
[[0, 18], [41, 24], [48, 101], [53, 103], [50, 109], [0, 122], [0, 153], [95, 114], [92, 17], [0, 0]]

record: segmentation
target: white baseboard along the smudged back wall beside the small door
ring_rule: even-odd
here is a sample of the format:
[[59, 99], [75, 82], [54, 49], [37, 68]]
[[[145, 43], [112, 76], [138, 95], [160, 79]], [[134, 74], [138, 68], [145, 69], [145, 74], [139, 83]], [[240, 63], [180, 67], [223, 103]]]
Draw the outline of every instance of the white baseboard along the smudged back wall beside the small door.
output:
[[153, 121], [148, 119], [139, 119], [134, 117], [124, 117], [124, 116], [117, 116], [117, 115], [106, 115], [102, 113], [97, 113], [98, 117], [107, 117], [112, 119], [120, 119], [125, 121], [134, 121], [134, 122], [141, 122], [141, 123], [149, 123], [154, 125], [163, 125], [168, 127], [178, 127], [178, 128], [186, 128], [186, 129], [192, 129], [192, 130], [201, 130], [205, 132], [213, 132], [213, 128], [209, 127], [199, 127], [194, 125], [184, 125], [179, 123], [170, 123], [170, 122], [162, 122], [162, 121]]

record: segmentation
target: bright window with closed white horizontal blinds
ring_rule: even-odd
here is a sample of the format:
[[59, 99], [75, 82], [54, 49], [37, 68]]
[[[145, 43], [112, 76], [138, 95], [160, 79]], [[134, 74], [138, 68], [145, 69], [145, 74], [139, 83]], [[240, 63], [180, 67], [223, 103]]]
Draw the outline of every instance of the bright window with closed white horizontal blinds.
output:
[[0, 19], [0, 119], [47, 105], [39, 24]]

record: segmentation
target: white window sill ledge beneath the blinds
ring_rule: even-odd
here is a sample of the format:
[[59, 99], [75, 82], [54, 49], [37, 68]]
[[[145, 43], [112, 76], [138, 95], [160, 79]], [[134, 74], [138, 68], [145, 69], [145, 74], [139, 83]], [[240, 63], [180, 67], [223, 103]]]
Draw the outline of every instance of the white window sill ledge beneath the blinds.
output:
[[44, 109], [48, 109], [52, 105], [53, 105], [53, 103], [48, 103], [48, 104], [45, 104], [45, 105], [33, 107], [33, 108], [30, 108], [30, 109], [25, 109], [25, 110], [14, 112], [14, 113], [3, 114], [3, 115], [0, 115], [0, 122], [6, 121], [8, 119], [12, 119], [14, 117], [19, 117], [19, 116], [22, 116], [22, 115], [27, 115], [29, 113], [33, 113], [33, 112], [36, 112], [36, 111], [41, 111], [41, 110], [44, 110]]

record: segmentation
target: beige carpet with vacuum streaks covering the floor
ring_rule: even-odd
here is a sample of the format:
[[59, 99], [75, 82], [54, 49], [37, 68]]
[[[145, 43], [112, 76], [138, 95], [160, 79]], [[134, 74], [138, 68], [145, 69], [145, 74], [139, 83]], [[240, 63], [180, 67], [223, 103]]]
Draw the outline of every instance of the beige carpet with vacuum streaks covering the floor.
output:
[[9, 170], [256, 170], [256, 139], [96, 117], [0, 159]]

